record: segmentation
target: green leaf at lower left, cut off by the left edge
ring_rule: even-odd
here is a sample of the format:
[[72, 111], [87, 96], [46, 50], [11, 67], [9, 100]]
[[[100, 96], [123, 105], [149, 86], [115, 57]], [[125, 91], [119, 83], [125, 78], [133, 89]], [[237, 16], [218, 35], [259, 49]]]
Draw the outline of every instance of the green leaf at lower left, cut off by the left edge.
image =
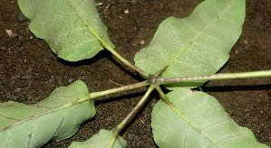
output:
[[0, 147], [39, 147], [49, 140], [71, 137], [82, 122], [95, 115], [93, 101], [74, 104], [88, 94], [86, 85], [77, 80], [68, 87], [54, 89], [34, 105], [0, 104]]

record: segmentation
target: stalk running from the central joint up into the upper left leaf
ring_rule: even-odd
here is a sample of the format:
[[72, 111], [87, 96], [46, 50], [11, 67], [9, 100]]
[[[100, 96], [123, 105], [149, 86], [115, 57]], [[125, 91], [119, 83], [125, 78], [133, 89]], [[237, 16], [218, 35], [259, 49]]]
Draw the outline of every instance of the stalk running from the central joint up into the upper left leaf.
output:
[[119, 60], [121, 60], [124, 64], [126, 64], [127, 66], [129, 66], [131, 69], [134, 69], [136, 71], [138, 71], [144, 78], [149, 78], [150, 74], [138, 67], [136, 67], [135, 65], [133, 65], [129, 60], [124, 59], [118, 52], [116, 52], [110, 44], [108, 44], [107, 42], [105, 42], [102, 37], [95, 32], [92, 27], [90, 25], [87, 25], [88, 29], [92, 32], [92, 34], [99, 40], [99, 42], [102, 43], [102, 46], [107, 49], [108, 51], [110, 51], [115, 57], [117, 57]]

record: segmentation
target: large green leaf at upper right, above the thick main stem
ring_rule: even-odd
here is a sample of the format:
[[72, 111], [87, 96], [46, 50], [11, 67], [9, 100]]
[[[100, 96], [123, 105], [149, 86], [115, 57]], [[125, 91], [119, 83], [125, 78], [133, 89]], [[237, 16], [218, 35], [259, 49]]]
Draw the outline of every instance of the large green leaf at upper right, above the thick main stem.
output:
[[160, 74], [164, 78], [215, 74], [242, 32], [245, 5], [245, 0], [206, 0], [189, 17], [169, 17], [160, 23], [150, 45], [135, 55], [136, 66], [150, 74], [166, 68]]

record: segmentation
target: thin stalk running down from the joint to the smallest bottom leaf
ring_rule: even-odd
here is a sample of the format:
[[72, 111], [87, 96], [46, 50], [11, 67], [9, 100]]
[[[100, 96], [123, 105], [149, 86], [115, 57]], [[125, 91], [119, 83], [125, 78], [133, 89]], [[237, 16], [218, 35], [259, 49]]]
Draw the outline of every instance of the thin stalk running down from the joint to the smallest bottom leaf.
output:
[[120, 133], [121, 129], [124, 127], [124, 125], [126, 125], [126, 123], [129, 121], [129, 119], [131, 118], [131, 116], [133, 116], [133, 115], [136, 113], [136, 111], [140, 109], [140, 106], [142, 106], [142, 105], [144, 104], [144, 102], [146, 102], [147, 98], [150, 96], [151, 91], [152, 91], [155, 87], [156, 87], [156, 85], [151, 85], [151, 86], [148, 88], [148, 90], [147, 90], [147, 92], [145, 93], [145, 95], [140, 99], [140, 102], [137, 104], [137, 106], [135, 106], [135, 107], [131, 110], [130, 114], [129, 114], [128, 116], [126, 116], [126, 117], [122, 120], [121, 124], [117, 125], [117, 127], [116, 127], [115, 130], [114, 130], [114, 134], [113, 134], [113, 138], [112, 138], [112, 140], [111, 140], [110, 147], [113, 147], [113, 144], [115, 143], [116, 138], [117, 138], [118, 134]]

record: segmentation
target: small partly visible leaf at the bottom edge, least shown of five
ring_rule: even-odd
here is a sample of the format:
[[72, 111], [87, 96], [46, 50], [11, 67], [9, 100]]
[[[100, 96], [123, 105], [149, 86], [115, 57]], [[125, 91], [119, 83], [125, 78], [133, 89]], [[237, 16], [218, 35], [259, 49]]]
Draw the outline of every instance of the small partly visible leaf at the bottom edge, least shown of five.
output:
[[[85, 142], [73, 142], [69, 148], [83, 148], [83, 147], [95, 147], [95, 148], [104, 148], [104, 147], [110, 147], [111, 140], [113, 138], [114, 130], [108, 131], [108, 130], [100, 130], [99, 134], [94, 134], [92, 138]], [[118, 135], [113, 148], [123, 148], [126, 147], [127, 143], [126, 141]]]

